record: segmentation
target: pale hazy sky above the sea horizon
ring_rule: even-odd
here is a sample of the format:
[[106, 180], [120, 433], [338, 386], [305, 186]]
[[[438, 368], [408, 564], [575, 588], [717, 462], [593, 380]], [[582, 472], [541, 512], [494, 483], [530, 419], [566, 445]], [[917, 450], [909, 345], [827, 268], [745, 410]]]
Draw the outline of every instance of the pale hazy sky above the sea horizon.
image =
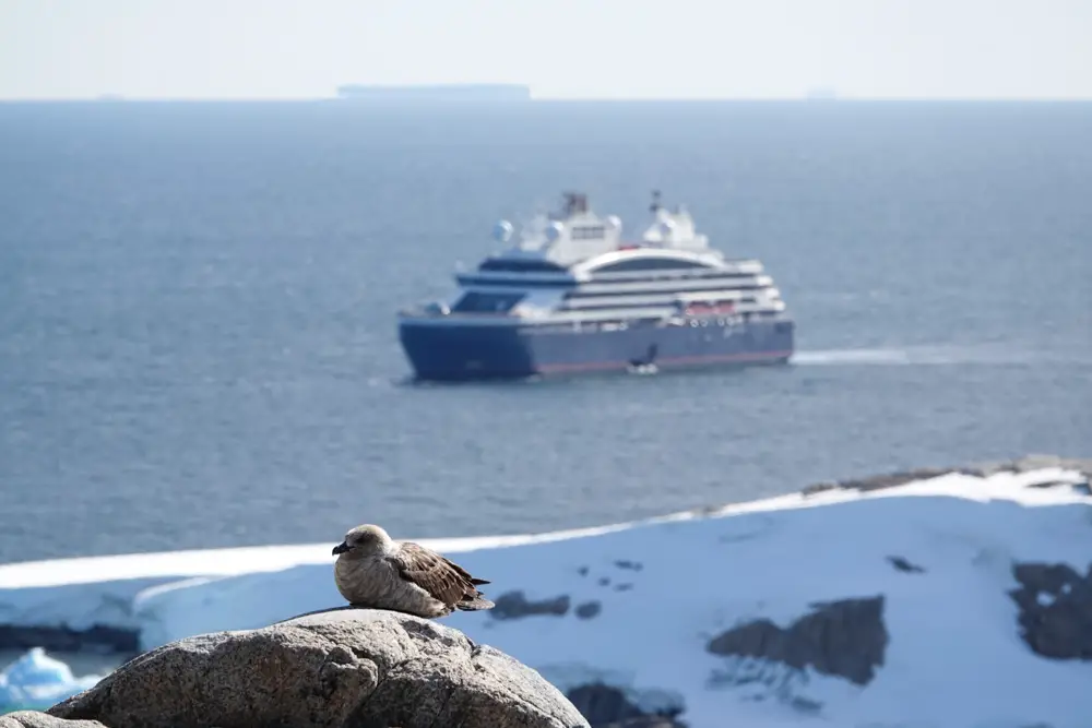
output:
[[0, 98], [1092, 99], [1092, 0], [0, 0]]

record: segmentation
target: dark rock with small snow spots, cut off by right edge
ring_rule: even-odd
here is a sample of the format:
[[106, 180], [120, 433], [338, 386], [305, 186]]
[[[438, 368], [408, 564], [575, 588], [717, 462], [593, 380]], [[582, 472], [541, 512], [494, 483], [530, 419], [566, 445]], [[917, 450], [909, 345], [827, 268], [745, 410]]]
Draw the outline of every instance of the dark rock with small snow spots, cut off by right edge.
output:
[[1083, 576], [1068, 564], [1017, 563], [1020, 636], [1043, 657], [1092, 660], [1092, 563]]

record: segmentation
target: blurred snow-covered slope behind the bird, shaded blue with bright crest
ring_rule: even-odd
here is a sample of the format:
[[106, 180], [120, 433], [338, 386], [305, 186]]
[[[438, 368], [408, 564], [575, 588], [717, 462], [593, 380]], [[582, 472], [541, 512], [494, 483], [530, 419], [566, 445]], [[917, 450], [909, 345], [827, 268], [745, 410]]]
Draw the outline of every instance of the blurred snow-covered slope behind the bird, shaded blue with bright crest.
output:
[[[1059, 468], [952, 474], [580, 532], [420, 542], [490, 580], [492, 598], [569, 597], [562, 616], [456, 613], [447, 624], [562, 689], [601, 680], [646, 706], [685, 707], [693, 728], [1088, 728], [1092, 664], [1031, 652], [1007, 594], [1014, 562], [1089, 568], [1092, 497], [1066, 485], [1081, 480]], [[129, 626], [146, 648], [261, 626], [342, 604], [335, 541], [0, 566], [0, 624]], [[812, 602], [876, 595], [890, 639], [865, 685], [707, 651], [743, 622], [787, 626]]]

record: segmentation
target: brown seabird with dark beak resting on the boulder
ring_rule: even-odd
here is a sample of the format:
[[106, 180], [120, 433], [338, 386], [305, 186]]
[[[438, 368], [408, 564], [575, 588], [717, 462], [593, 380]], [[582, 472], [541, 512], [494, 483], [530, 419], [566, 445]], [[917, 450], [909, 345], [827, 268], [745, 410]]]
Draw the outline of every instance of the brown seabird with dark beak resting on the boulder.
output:
[[431, 549], [396, 541], [373, 524], [351, 528], [335, 546], [334, 583], [353, 607], [388, 609], [426, 619], [492, 609], [477, 587], [489, 584]]

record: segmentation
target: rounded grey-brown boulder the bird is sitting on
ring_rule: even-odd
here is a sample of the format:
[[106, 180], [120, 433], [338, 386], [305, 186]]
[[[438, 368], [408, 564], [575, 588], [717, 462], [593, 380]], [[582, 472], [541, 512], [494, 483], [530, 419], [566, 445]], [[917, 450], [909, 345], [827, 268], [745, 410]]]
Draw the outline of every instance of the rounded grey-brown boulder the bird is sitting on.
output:
[[508, 655], [434, 621], [367, 609], [187, 637], [48, 714], [109, 728], [587, 726]]

